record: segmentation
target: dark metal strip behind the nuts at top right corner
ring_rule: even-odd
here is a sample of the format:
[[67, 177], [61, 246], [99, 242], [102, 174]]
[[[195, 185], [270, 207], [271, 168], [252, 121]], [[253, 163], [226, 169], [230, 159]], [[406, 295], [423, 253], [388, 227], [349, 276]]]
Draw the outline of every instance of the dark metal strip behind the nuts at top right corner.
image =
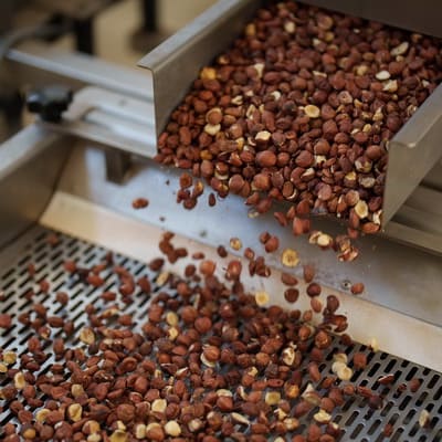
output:
[[442, 38], [440, 0], [302, 0], [302, 2]]

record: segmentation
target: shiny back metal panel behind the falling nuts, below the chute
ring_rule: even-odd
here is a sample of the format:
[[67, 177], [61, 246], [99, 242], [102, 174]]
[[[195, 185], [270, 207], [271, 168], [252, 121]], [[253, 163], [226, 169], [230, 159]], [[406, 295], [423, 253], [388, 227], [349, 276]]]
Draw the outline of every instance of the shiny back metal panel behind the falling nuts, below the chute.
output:
[[[92, 170], [94, 173], [91, 173]], [[282, 248], [294, 248], [302, 262], [314, 264], [318, 269], [317, 278], [325, 286], [348, 292], [349, 281], [362, 281], [366, 285], [365, 299], [439, 327], [442, 325], [439, 295], [442, 290], [441, 255], [404, 246], [381, 235], [368, 235], [357, 241], [360, 256], [351, 263], [341, 263], [334, 252], [322, 252], [304, 236], [294, 238], [291, 229], [281, 228], [272, 213], [249, 219], [248, 207], [238, 196], [218, 200], [210, 208], [207, 194], [211, 189], [207, 187], [197, 207], [185, 210], [175, 203], [179, 176], [178, 169], [164, 168], [154, 161], [138, 161], [134, 164], [130, 180], [123, 186], [115, 186], [105, 180], [103, 152], [77, 148], [63, 172], [59, 190], [213, 248], [229, 244], [232, 236], [239, 236], [244, 248], [250, 246], [256, 253], [263, 253], [259, 235], [264, 231], [271, 232], [280, 238]], [[134, 211], [131, 208], [129, 202], [137, 197], [149, 199], [146, 210]], [[422, 218], [429, 215], [424, 213]], [[329, 234], [344, 231], [341, 225], [329, 219], [314, 219], [313, 223], [314, 229]], [[441, 245], [440, 234], [422, 233], [402, 224], [390, 225], [401, 229], [392, 233], [398, 233], [403, 241], [421, 242], [422, 249], [427, 246], [434, 250], [431, 248], [435, 248], [438, 241]], [[238, 253], [242, 254], [242, 251]], [[442, 249], [439, 249], [441, 253]], [[277, 253], [266, 255], [265, 260], [273, 267], [284, 271]], [[301, 275], [301, 269], [295, 272]]]

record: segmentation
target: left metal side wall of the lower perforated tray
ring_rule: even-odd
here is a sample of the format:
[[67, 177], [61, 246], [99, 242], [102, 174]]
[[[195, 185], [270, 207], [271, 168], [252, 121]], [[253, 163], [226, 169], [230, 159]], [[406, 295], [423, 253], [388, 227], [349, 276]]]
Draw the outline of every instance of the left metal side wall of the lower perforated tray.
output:
[[40, 218], [69, 146], [66, 136], [35, 126], [0, 145], [0, 249]]

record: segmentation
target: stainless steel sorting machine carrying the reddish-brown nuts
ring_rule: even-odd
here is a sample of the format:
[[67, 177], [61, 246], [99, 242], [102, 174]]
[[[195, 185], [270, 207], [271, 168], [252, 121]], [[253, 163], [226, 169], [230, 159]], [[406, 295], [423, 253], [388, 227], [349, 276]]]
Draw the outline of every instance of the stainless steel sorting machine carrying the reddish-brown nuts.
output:
[[[442, 36], [438, 14], [420, 13], [431, 10], [422, 2], [409, 1], [407, 7], [402, 2], [394, 14], [381, 1], [358, 2], [358, 7], [351, 1], [309, 3], [327, 3], [328, 8]], [[157, 240], [164, 230], [175, 232], [178, 243], [202, 250], [207, 256], [215, 256], [217, 246], [232, 236], [254, 248], [259, 234], [267, 230], [317, 266], [318, 281], [340, 299], [355, 340], [361, 345], [378, 341], [382, 351], [370, 360], [372, 379], [365, 379], [364, 385], [370, 387], [391, 371], [398, 381], [413, 376], [423, 380], [417, 396], [393, 399], [391, 392], [382, 410], [367, 412], [355, 401], [339, 412], [338, 421], [346, 423], [343, 440], [380, 441], [381, 422], [389, 421], [396, 429], [391, 440], [441, 441], [442, 86], [392, 140], [383, 230], [359, 240], [362, 254], [352, 263], [337, 262], [307, 240], [294, 240], [271, 215], [249, 219], [243, 201], [234, 196], [213, 208], [199, 203], [192, 211], [183, 211], [173, 202], [179, 173], [151, 159], [157, 135], [192, 78], [255, 10], [256, 2], [251, 0], [219, 1], [140, 62], [150, 72], [63, 53], [40, 42], [27, 42], [8, 52], [4, 72], [17, 85], [32, 81], [33, 88], [40, 87], [32, 107], [43, 117], [0, 146], [1, 312], [17, 317], [25, 307], [31, 262], [36, 264], [36, 281], [44, 278], [77, 299], [72, 315], [81, 317], [84, 306], [98, 295], [60, 278], [55, 264], [67, 256], [91, 265], [109, 249], [124, 265], [139, 270], [158, 254]], [[73, 96], [65, 88], [48, 87], [53, 84], [66, 85]], [[137, 197], [148, 198], [146, 210], [131, 208]], [[330, 220], [318, 222], [327, 232], [340, 229]], [[52, 231], [60, 235], [56, 245], [45, 241]], [[265, 288], [272, 302], [284, 306], [281, 263], [269, 260], [272, 276], [250, 280], [248, 288]], [[180, 271], [180, 264], [171, 269]], [[357, 281], [366, 285], [362, 297], [348, 293], [350, 283]], [[36, 296], [45, 297], [43, 293]], [[301, 306], [303, 303], [307, 301], [299, 299]], [[137, 301], [128, 313], [139, 314]], [[2, 346], [20, 351], [30, 333], [17, 324], [0, 333]], [[422, 408], [432, 415], [425, 430], [417, 424]], [[0, 425], [9, 419], [6, 409]]]

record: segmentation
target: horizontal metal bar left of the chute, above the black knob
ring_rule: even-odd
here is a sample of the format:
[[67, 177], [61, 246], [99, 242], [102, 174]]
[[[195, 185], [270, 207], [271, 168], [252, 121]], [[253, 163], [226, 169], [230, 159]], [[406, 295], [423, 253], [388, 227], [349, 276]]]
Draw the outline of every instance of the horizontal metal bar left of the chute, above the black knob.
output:
[[19, 85], [29, 84], [30, 78], [33, 86], [64, 81], [75, 88], [96, 85], [147, 102], [152, 99], [152, 84], [148, 73], [86, 54], [28, 42], [9, 51], [7, 60], [6, 72]]

